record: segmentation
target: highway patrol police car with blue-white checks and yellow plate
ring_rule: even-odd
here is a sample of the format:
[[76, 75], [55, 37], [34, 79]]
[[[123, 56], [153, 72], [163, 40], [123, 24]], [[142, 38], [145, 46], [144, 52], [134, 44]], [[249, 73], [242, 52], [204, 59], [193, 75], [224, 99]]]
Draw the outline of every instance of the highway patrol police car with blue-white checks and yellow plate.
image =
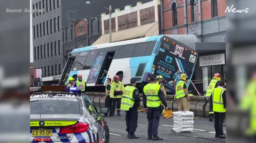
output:
[[30, 142], [109, 142], [108, 126], [101, 116], [108, 108], [98, 112], [88, 96], [71, 93], [71, 89], [49, 90], [30, 95]]

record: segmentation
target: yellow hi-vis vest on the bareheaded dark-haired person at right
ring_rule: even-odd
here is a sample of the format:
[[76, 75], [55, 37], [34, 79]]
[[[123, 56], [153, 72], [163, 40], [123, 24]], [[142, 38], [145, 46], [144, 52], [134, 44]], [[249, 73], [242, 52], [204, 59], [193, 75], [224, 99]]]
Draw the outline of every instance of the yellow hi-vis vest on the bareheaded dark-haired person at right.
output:
[[222, 94], [224, 91], [225, 89], [222, 89], [220, 87], [213, 89], [212, 99], [213, 99], [214, 112], [226, 112], [226, 109], [224, 108], [224, 103], [222, 100]]

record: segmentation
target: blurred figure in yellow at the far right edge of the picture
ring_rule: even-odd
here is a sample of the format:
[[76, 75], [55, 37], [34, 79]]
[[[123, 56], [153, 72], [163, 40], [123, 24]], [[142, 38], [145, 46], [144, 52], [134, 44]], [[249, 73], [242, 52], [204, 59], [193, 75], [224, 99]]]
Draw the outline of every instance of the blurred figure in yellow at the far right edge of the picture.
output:
[[247, 136], [256, 136], [256, 72], [252, 74], [245, 96], [240, 103], [240, 109], [249, 111], [249, 127], [246, 130]]

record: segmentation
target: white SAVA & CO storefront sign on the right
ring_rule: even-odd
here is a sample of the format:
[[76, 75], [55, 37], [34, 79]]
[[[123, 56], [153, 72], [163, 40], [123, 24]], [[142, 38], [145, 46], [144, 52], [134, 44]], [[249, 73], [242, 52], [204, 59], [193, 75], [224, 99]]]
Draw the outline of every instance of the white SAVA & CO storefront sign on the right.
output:
[[209, 65], [224, 65], [225, 64], [225, 54], [214, 54], [209, 56], [199, 57], [199, 66], [209, 66]]

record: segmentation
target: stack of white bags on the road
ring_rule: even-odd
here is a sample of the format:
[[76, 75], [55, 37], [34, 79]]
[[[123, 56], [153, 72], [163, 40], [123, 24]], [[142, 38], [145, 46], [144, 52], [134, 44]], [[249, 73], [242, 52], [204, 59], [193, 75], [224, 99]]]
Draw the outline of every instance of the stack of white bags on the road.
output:
[[174, 132], [193, 132], [194, 112], [178, 111], [174, 112]]

